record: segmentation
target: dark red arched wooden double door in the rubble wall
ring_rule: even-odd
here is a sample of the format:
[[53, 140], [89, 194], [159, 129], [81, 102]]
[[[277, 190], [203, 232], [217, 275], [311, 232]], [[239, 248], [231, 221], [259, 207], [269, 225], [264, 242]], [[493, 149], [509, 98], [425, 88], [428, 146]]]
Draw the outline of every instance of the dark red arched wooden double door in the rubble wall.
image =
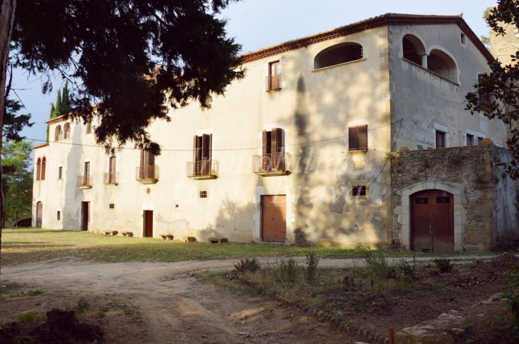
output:
[[410, 197], [411, 249], [419, 252], [454, 251], [454, 195], [425, 190]]

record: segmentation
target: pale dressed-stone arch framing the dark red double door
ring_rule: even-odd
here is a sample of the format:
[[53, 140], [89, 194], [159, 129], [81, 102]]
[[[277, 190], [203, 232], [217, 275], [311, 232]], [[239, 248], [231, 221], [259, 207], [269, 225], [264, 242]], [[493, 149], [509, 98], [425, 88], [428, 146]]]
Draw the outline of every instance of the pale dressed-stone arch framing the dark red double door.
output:
[[463, 247], [461, 228], [465, 225], [465, 204], [464, 189], [462, 184], [451, 182], [420, 182], [409, 185], [402, 189], [401, 205], [402, 211], [398, 216], [398, 222], [401, 224], [400, 242], [406, 248], [409, 248], [411, 239], [411, 204], [409, 204], [409, 196], [424, 190], [442, 190], [454, 195], [454, 250], [461, 251]]

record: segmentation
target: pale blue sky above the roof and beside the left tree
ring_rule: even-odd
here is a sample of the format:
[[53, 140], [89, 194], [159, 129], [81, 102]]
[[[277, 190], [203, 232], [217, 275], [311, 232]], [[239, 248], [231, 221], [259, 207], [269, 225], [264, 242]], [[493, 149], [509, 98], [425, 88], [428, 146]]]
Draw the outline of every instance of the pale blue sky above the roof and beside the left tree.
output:
[[[463, 13], [463, 19], [478, 36], [488, 35], [482, 15], [487, 7], [495, 4], [496, 1], [490, 0], [243, 0], [231, 4], [223, 16], [228, 20], [228, 35], [243, 46], [242, 52], [248, 52], [387, 12], [422, 15]], [[26, 107], [25, 112], [32, 114], [34, 122], [31, 128], [22, 131], [22, 135], [45, 140], [50, 102], [55, 101], [62, 80], [54, 79], [54, 91], [50, 95], [42, 94], [40, 79], [30, 77], [22, 70], [14, 72], [13, 84]]]

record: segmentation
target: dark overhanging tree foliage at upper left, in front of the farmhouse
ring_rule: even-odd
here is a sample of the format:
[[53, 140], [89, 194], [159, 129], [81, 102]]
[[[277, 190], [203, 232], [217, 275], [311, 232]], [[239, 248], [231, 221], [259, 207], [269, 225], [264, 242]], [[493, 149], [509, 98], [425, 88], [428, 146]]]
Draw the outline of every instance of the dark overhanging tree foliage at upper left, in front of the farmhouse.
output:
[[99, 144], [133, 142], [159, 153], [146, 132], [152, 120], [169, 121], [169, 108], [223, 94], [243, 75], [240, 46], [217, 17], [228, 3], [18, 0], [11, 59], [32, 73], [58, 70], [70, 79], [73, 116], [99, 116]]

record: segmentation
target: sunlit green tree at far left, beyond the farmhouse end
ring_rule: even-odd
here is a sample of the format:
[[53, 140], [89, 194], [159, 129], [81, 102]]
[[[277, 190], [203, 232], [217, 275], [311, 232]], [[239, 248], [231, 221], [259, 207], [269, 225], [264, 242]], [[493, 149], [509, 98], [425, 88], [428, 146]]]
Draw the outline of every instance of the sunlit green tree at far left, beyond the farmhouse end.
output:
[[2, 144], [4, 178], [2, 192], [4, 209], [2, 226], [6, 221], [18, 222], [31, 217], [32, 171], [31, 142], [4, 140]]

